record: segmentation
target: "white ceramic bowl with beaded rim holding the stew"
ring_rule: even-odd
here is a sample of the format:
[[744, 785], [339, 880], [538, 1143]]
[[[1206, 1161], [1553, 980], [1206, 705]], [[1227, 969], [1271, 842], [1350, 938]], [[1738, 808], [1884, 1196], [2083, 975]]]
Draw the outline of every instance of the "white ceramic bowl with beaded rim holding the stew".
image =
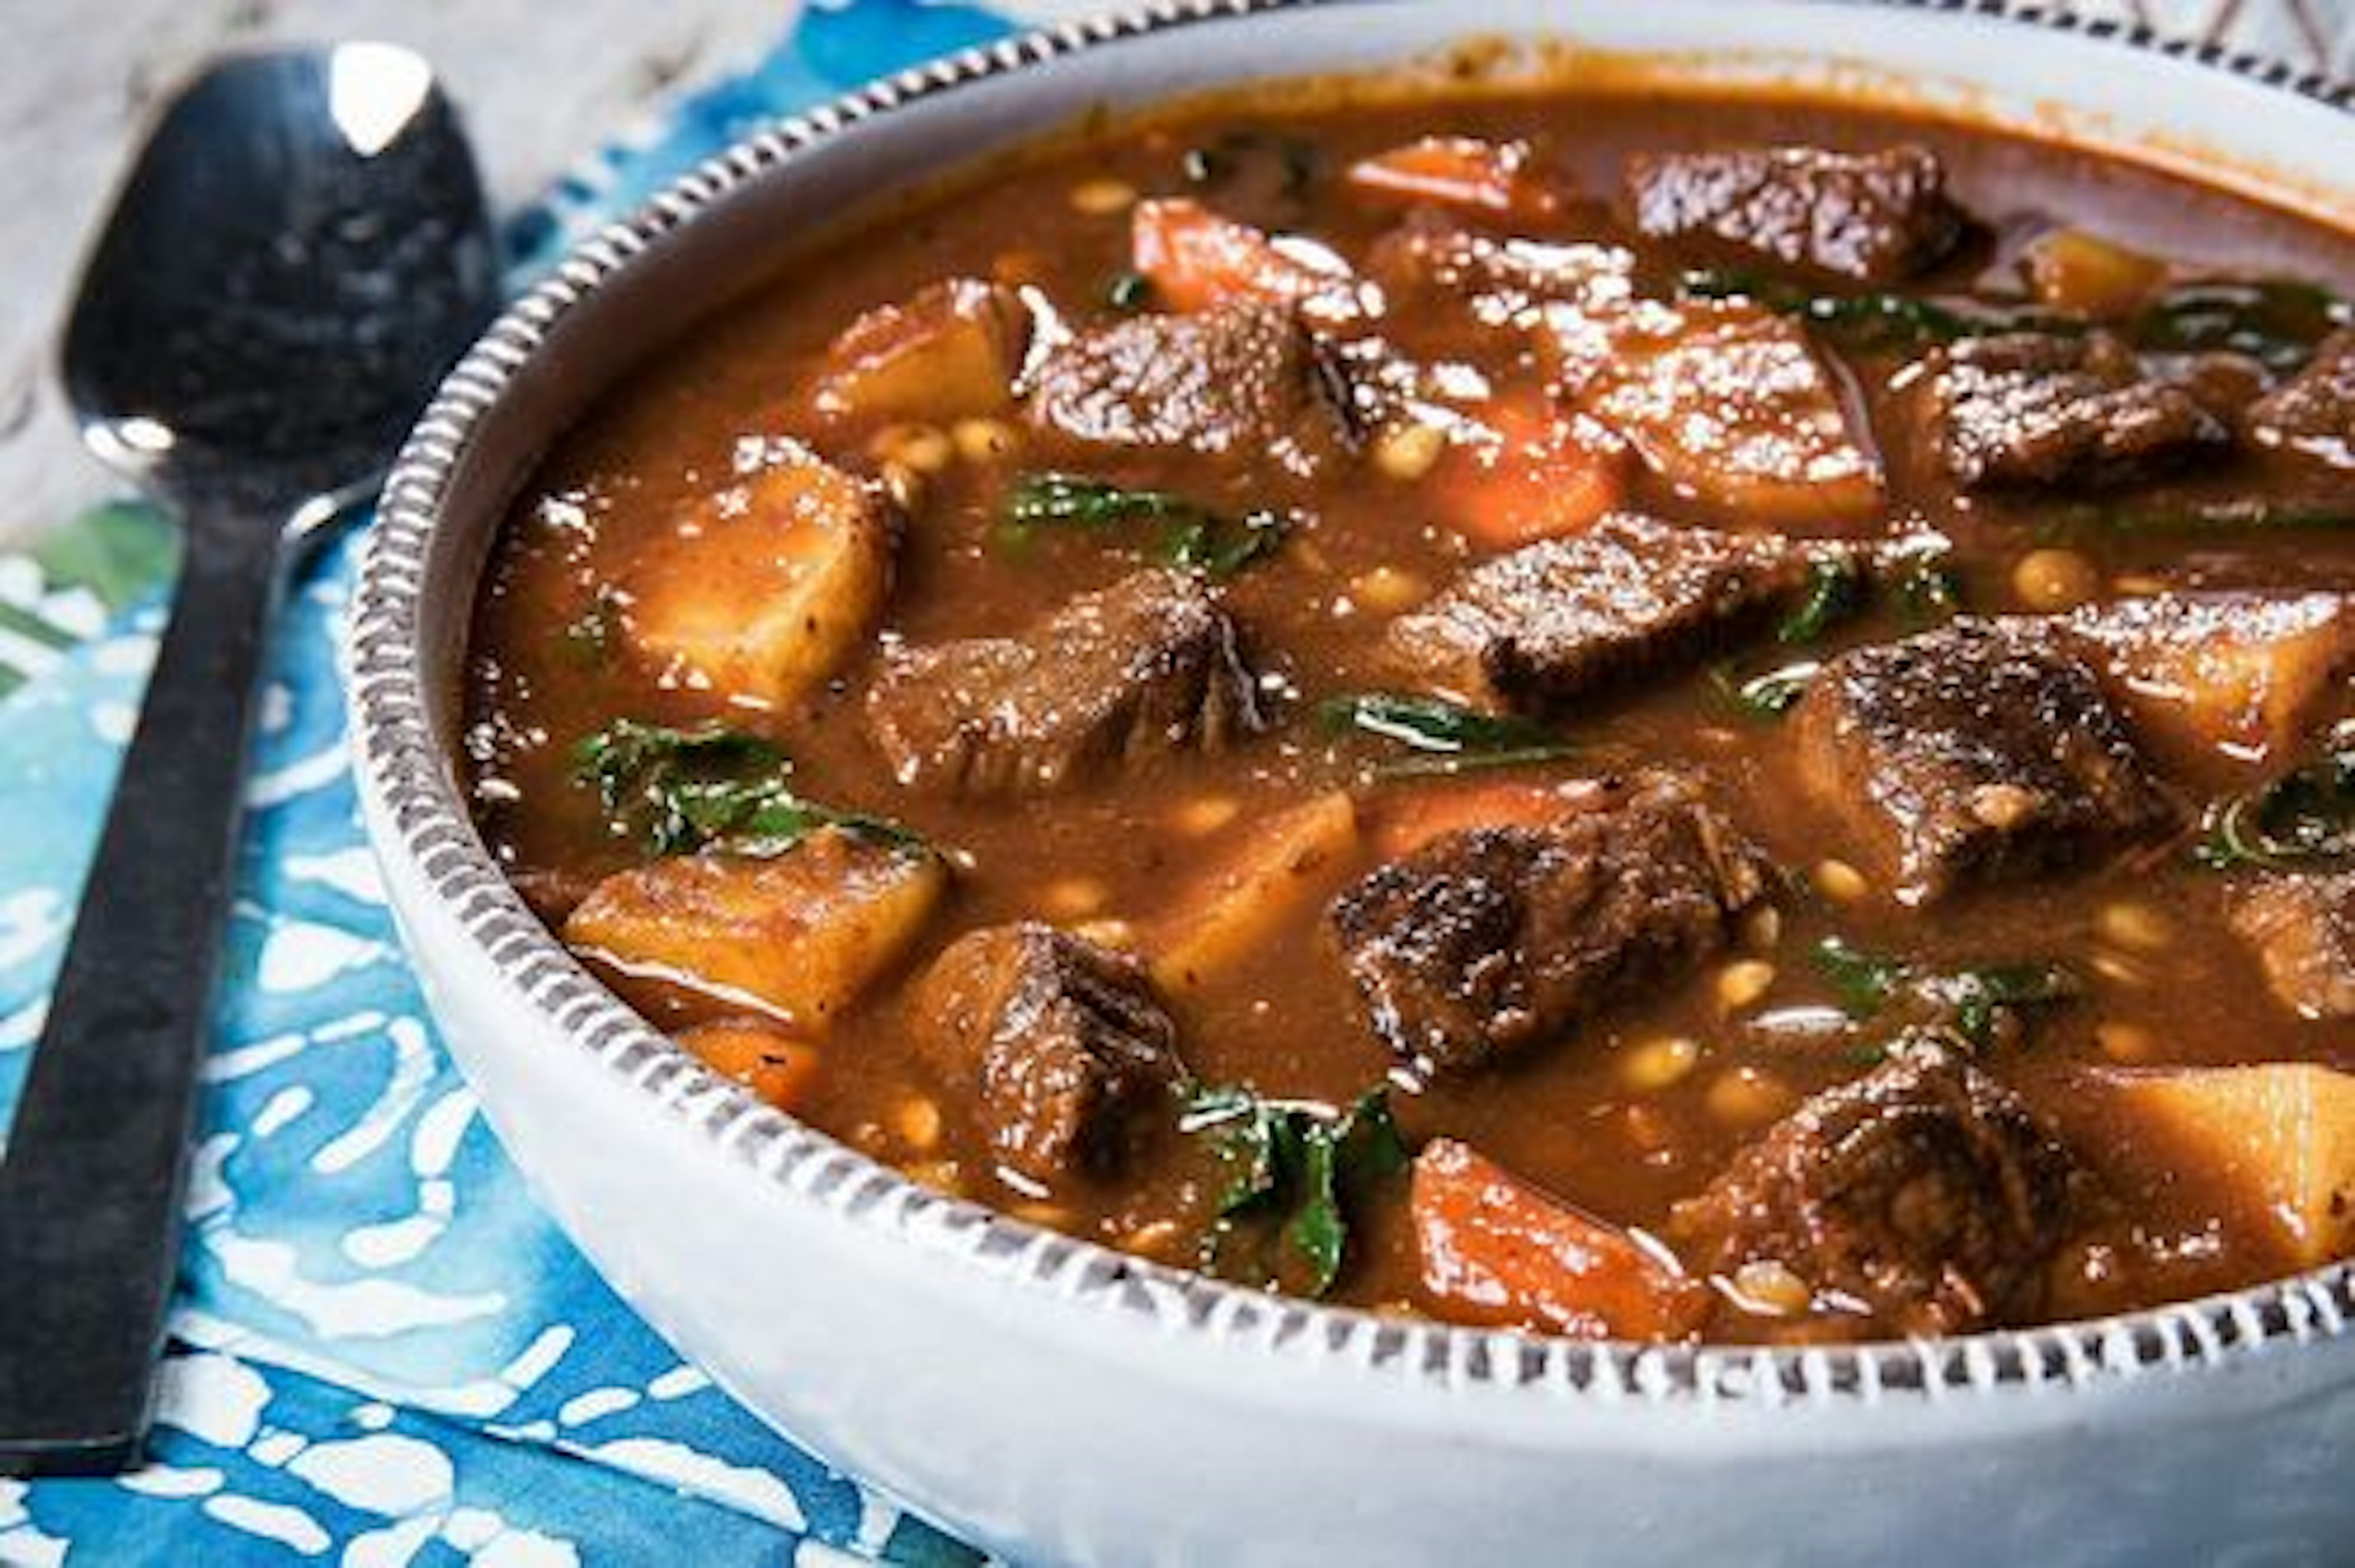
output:
[[756, 137], [492, 327], [417, 426], [367, 551], [367, 831], [492, 1125], [612, 1285], [737, 1398], [1022, 1561], [2348, 1561], [2348, 1267], [1853, 1349], [1575, 1344], [1272, 1300], [940, 1198], [758, 1104], [589, 979], [483, 852], [450, 758], [492, 530], [551, 436], [780, 235], [1095, 104], [1397, 68], [1470, 28], [1966, 108], [2355, 226], [2343, 87], [1990, 0], [1163, 7]]

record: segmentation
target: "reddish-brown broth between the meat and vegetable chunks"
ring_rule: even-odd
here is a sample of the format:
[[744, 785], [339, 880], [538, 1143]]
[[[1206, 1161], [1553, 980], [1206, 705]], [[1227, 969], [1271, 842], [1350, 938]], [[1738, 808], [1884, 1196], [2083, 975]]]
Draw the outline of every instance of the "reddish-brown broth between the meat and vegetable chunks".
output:
[[[1276, 125], [1269, 115], [1248, 115], [1248, 122], [1258, 129]], [[1352, 789], [1361, 810], [1380, 822], [1418, 789], [1446, 789], [1371, 784], [1366, 763], [1373, 753], [1333, 742], [1309, 718], [1316, 697], [1394, 685], [1368, 652], [1382, 617], [1354, 607], [1352, 579], [1392, 570], [1444, 584], [1467, 558], [1453, 534], [1418, 516], [1411, 485], [1371, 466], [1324, 483], [1312, 497], [1314, 520], [1298, 530], [1293, 549], [1241, 574], [1227, 593], [1229, 610], [1251, 633], [1255, 669], [1279, 676], [1295, 692], [1281, 704], [1274, 732], [1222, 756], [1178, 758], [1095, 789], [1020, 800], [900, 789], [860, 725], [874, 652], [794, 711], [749, 713], [704, 692], [664, 690], [626, 662], [584, 659], [563, 636], [591, 610], [598, 584], [624, 574], [638, 553], [664, 549], [678, 509], [728, 480], [739, 440], [801, 436], [834, 461], [871, 471], [871, 428], [810, 428], [796, 403], [798, 388], [815, 379], [829, 339], [860, 311], [904, 299], [947, 275], [1020, 275], [1074, 320], [1109, 315], [1100, 301], [1107, 280], [1128, 266], [1126, 214], [1076, 212], [1072, 186], [1109, 177], [1145, 193], [1192, 193], [1180, 153], [1218, 129], [1109, 132], [1034, 160], [987, 188], [949, 193], [890, 226], [803, 257], [763, 294], [645, 365], [556, 447], [516, 504], [485, 579], [466, 690], [480, 824], [535, 899], [560, 909], [596, 878], [636, 862], [631, 845], [605, 831], [596, 800], [570, 779], [568, 763], [579, 737], [624, 713], [662, 723], [725, 718], [763, 730], [791, 753], [796, 782], [808, 793], [895, 817], [940, 845], [954, 845], [961, 852], [956, 895], [911, 956], [911, 970], [966, 930], [1050, 916], [1057, 885], [1079, 878], [1102, 888], [1102, 916], [1149, 928], [1170, 906], [1173, 892], [1203, 876], [1251, 824], [1314, 793]], [[2188, 271], [2284, 273], [2341, 294], [2355, 292], [2355, 242], [2346, 233], [2124, 162], [1884, 113], [1745, 101], [1663, 108], [1639, 99], [1510, 99], [1356, 108], [1283, 122], [1281, 129], [1314, 141], [1324, 167], [1432, 132], [1538, 137], [1585, 193], [1613, 191], [1620, 162], [1637, 148], [1743, 139], [1870, 148], [1912, 139], [1945, 155], [1959, 202], [1992, 226], [1992, 240], [1926, 287], [1962, 290], [1973, 278], [2002, 278], [2021, 238], [2058, 214]], [[1394, 207], [1352, 198], [1326, 179], [1298, 200], [1269, 181], [1213, 191], [1206, 200], [1246, 221], [1314, 233], [1347, 257], [1366, 257], [1399, 217]], [[1578, 205], [1547, 231], [1547, 238], [1557, 235], [1630, 238], [1604, 202]], [[1663, 266], [1670, 264], [1646, 259], [1646, 268]], [[1413, 330], [1401, 330], [1399, 341], [1425, 346]], [[1448, 346], [1484, 360], [1498, 379], [1538, 377], [1519, 348], [1493, 337]], [[1889, 356], [1849, 360], [1846, 374], [1875, 428], [1896, 428], [1886, 379], [1898, 363]], [[1919, 473], [1910, 452], [1891, 450], [1889, 459], [1889, 516], [1936, 527], [1955, 542], [1971, 610], [2021, 607], [2011, 565], [2051, 532], [2054, 506], [2035, 499], [1962, 501]], [[1001, 490], [1022, 466], [1020, 452], [994, 464], [956, 461], [930, 485], [900, 556], [885, 638], [935, 643], [1010, 633], [1072, 593], [1133, 570], [1133, 558], [1093, 539], [1036, 539], [1020, 556], [994, 546]], [[2254, 459], [2240, 459], [2237, 471], [2171, 494], [2244, 487], [2251, 478], [2313, 483], [2254, 469]], [[1234, 511], [1309, 501], [1281, 494], [1281, 483], [1253, 464], [1119, 454], [1090, 471]], [[2336, 494], [2315, 499], [2343, 506], [2350, 497], [2341, 483]], [[1658, 485], [1639, 485], [1632, 504], [1665, 518], [1729, 523]], [[2096, 563], [2105, 582], [2141, 574], [2169, 586], [2355, 589], [2355, 534], [2343, 530], [2284, 539], [2079, 530], [2068, 542]], [[1875, 612], [1842, 626], [1827, 647], [1903, 631], [1893, 614]], [[2350, 711], [2343, 687], [2339, 702], [2341, 713]], [[1700, 673], [1599, 704], [1568, 730], [1590, 746], [1592, 760], [1573, 758], [1557, 768], [1561, 775], [1594, 772], [1618, 758], [1693, 763], [1780, 864], [1806, 869], [1839, 852], [1837, 831], [1795, 784], [1787, 735], [1733, 711]], [[2204, 777], [2181, 782], [2195, 791], [2221, 791], [2254, 779], [2218, 760]], [[1180, 826], [1185, 808], [1206, 798], [1232, 800], [1232, 822], [1208, 833]], [[1335, 866], [1331, 885], [1340, 888], [1371, 864], [1368, 850], [1359, 864]], [[2266, 1217], [2193, 1170], [2152, 1177], [2143, 1163], [2110, 1158], [2105, 1151], [2136, 1132], [2072, 1092], [2087, 1069], [2115, 1064], [2096, 1038], [2103, 1024], [2148, 1031], [2150, 1055], [2136, 1064], [2301, 1059], [2355, 1069], [2355, 1031], [2343, 1022], [2298, 1019], [2270, 1001], [2254, 958], [2221, 925], [2221, 878], [2185, 864], [2181, 845], [2169, 845], [2077, 876], [1948, 899], [1926, 913], [1882, 897], [1858, 904], [1797, 897], [1785, 902], [1773, 944], [1729, 951], [1689, 984], [1620, 1008], [1580, 1038], [1531, 1052], [1526, 1062], [1397, 1095], [1397, 1109], [1411, 1137], [1444, 1130], [1594, 1215], [1658, 1227], [1677, 1198], [1698, 1191], [1726, 1163], [1759, 1118], [1860, 1071], [1860, 1052], [1872, 1048], [1875, 1031], [1823, 1026], [1835, 998], [1804, 961], [1820, 937], [1837, 932], [1851, 944], [1931, 965], [2070, 958], [2087, 975], [2087, 994], [2042, 1019], [2028, 1041], [1999, 1048], [1992, 1062], [2112, 1180], [2124, 1217], [2089, 1241], [2122, 1248], [2131, 1267], [2065, 1281], [2054, 1309], [2110, 1311], [2258, 1281], [2289, 1262]], [[2174, 937], [2160, 954], [2115, 954], [2131, 961], [2131, 970], [2108, 975], [2094, 968], [2110, 951], [2096, 937], [2096, 921], [2122, 899], [2162, 913]], [[1069, 906], [1057, 918], [1069, 918]], [[1319, 918], [1321, 899], [1283, 942], [1265, 946], [1213, 991], [1178, 1008], [1194, 1074], [1335, 1104], [1382, 1083], [1392, 1064], [1364, 1026], [1316, 928]], [[1773, 963], [1776, 979], [1762, 1003], [1729, 1015], [1712, 979], [1724, 963], [1743, 958]], [[664, 1026], [728, 1010], [692, 989], [615, 979]], [[1762, 1019], [1780, 1026], [1762, 1026]], [[1630, 1088], [1630, 1052], [1663, 1036], [1700, 1043], [1693, 1071], [1665, 1088]], [[874, 989], [838, 1019], [822, 1041], [822, 1055], [827, 1067], [798, 1107], [810, 1121], [890, 1161], [926, 1163], [935, 1172], [944, 1161], [954, 1163], [970, 1196], [1003, 1205], [1036, 1201], [1036, 1194], [991, 1175], [987, 1154], [954, 1104], [944, 1107], [944, 1142], [937, 1149], [911, 1149], [895, 1132], [897, 1107], [907, 1097], [940, 1095], [907, 1043], [895, 986]], [[1724, 1088], [1743, 1074], [1750, 1076], [1747, 1095]], [[1173, 1220], [1175, 1227], [1156, 1245], [1182, 1262], [1192, 1257], [1192, 1238], [1210, 1205], [1210, 1165], [1199, 1140], [1170, 1135], [1149, 1142], [1126, 1180], [1072, 1182], [1048, 1194], [1048, 1203], [1053, 1212], [1043, 1217], [1050, 1222], [1112, 1243], [1133, 1238], [1147, 1222]], [[1397, 1212], [1375, 1212], [1366, 1227], [1366, 1245], [1338, 1295], [1413, 1304], [1415, 1260]], [[2075, 1264], [2065, 1260], [2063, 1267]], [[1719, 1333], [1769, 1337], [1776, 1326], [1738, 1318], [1722, 1323]]]

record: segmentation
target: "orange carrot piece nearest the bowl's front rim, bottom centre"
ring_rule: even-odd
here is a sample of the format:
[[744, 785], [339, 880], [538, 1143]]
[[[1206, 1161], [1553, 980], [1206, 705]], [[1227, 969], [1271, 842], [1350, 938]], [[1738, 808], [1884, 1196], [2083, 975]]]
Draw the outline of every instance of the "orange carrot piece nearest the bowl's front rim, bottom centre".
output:
[[1415, 1158], [1408, 1210], [1422, 1293], [1444, 1318], [1575, 1340], [1679, 1340], [1707, 1311], [1707, 1288], [1672, 1257], [1455, 1140], [1432, 1140]]

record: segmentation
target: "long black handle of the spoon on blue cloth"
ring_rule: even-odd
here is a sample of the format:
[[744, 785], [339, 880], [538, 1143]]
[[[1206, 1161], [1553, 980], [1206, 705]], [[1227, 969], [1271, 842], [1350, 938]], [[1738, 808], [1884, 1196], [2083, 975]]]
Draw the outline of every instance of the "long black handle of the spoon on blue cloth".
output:
[[47, 1026], [5, 1130], [0, 1474], [120, 1469], [146, 1434], [245, 735], [285, 570], [278, 527], [193, 523]]

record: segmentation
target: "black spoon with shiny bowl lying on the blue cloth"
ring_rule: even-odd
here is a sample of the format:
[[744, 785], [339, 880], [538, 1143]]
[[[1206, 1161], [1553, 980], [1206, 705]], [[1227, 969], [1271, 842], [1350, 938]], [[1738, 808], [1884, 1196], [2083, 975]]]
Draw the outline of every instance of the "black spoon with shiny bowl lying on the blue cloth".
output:
[[66, 330], [92, 450], [181, 520], [179, 596], [0, 1154], [0, 1474], [137, 1462], [271, 610], [495, 306], [422, 59], [231, 59], [165, 111]]

